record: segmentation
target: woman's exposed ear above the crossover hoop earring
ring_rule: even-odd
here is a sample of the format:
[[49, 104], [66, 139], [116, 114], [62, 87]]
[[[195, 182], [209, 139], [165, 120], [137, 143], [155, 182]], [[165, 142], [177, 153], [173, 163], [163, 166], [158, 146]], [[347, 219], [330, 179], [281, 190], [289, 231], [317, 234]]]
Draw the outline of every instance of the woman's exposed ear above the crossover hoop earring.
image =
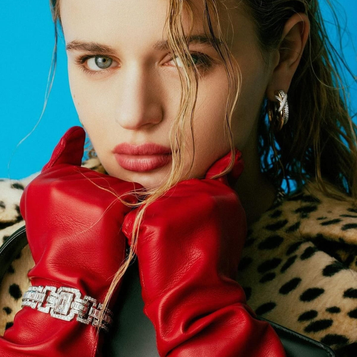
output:
[[275, 94], [279, 90], [287, 92], [292, 77], [297, 69], [310, 32], [310, 21], [306, 14], [294, 14], [285, 23], [280, 45], [277, 49], [278, 56], [266, 96], [268, 100], [276, 101]]

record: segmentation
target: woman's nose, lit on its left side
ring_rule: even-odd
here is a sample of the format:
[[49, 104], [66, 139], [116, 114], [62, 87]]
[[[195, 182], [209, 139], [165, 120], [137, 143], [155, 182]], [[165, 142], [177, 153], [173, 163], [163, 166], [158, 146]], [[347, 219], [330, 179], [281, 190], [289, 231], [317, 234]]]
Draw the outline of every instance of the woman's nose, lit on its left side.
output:
[[150, 129], [159, 124], [163, 116], [158, 96], [159, 83], [155, 79], [150, 80], [147, 73], [137, 68], [131, 68], [123, 76], [116, 122], [128, 130]]

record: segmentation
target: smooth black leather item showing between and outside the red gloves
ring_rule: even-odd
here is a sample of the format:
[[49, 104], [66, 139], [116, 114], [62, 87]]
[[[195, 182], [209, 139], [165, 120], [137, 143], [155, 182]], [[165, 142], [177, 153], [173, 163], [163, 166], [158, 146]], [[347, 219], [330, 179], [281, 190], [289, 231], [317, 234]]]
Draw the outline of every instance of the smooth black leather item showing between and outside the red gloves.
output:
[[[7, 238], [0, 247], [0, 279], [4, 277], [15, 257], [27, 244], [25, 226]], [[154, 326], [143, 312], [144, 301], [137, 259], [124, 275], [119, 298], [114, 307], [114, 323], [106, 334], [103, 356], [159, 357]], [[257, 316], [272, 325], [280, 337], [287, 357], [336, 357], [330, 347], [292, 331], [275, 322]], [[207, 356], [215, 357], [215, 356]]]

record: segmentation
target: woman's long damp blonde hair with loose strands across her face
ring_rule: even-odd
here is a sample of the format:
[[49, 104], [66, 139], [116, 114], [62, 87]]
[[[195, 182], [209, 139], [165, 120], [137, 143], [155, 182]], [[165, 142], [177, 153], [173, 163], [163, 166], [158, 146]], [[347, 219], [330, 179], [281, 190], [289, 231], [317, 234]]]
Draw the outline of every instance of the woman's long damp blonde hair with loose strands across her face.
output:
[[[229, 96], [225, 109], [225, 127], [230, 138], [233, 154], [233, 136], [231, 120], [240, 92], [241, 77], [239, 66], [231, 55], [222, 36], [220, 28], [218, 4], [225, 6], [223, 0], [202, 0], [204, 5], [203, 25], [205, 33], [212, 38], [212, 46], [216, 49], [225, 67]], [[292, 179], [297, 186], [315, 177], [318, 186], [327, 196], [338, 200], [349, 199], [352, 203], [357, 200], [357, 149], [356, 126], [353, 124], [346, 109], [346, 94], [338, 91], [342, 88], [338, 75], [336, 61], [333, 57], [334, 47], [328, 41], [326, 30], [316, 0], [243, 0], [238, 1], [243, 9], [255, 22], [256, 38], [260, 44], [262, 54], [277, 48], [280, 44], [282, 29], [285, 21], [295, 12], [305, 12], [311, 21], [311, 31], [307, 46], [303, 52], [301, 62], [293, 77], [289, 89], [290, 119], [280, 132], [273, 132], [267, 120], [267, 101], [262, 104], [262, 111], [257, 132], [257, 145], [262, 158], [261, 170], [266, 173], [276, 187], [281, 186], [283, 180]], [[50, 0], [51, 11], [55, 23], [55, 46], [57, 45], [57, 20], [60, 22], [59, 0]], [[156, 190], [141, 192], [145, 197], [135, 204], [138, 209], [132, 244], [129, 256], [115, 274], [109, 291], [104, 300], [104, 306], [110, 300], [115, 286], [123, 277], [136, 250], [139, 226], [145, 213], [145, 208], [170, 187], [184, 179], [188, 171], [183, 172], [185, 162], [186, 138], [183, 137], [183, 127], [190, 120], [191, 132], [193, 116], [197, 99], [197, 87], [200, 74], [194, 65], [188, 45], [183, 40], [182, 17], [187, 10], [190, 25], [193, 23], [191, 0], [170, 0], [170, 7], [165, 21], [165, 31], [169, 41], [169, 49], [175, 64], [176, 56], [183, 64], [178, 67], [181, 81], [180, 109], [170, 130], [172, 149], [172, 167], [169, 178]], [[227, 8], [226, 8], [227, 10]], [[211, 18], [217, 24], [217, 34], [213, 32]], [[192, 28], [190, 27], [192, 30]], [[221, 42], [221, 47], [216, 39]], [[54, 60], [54, 64], [56, 59]], [[181, 73], [182, 71], [182, 73]], [[307, 91], [306, 88], [311, 88]], [[346, 141], [345, 145], [341, 137]], [[193, 140], [193, 137], [192, 137]], [[326, 145], [328, 143], [328, 145]], [[175, 150], [177, 145], [177, 151]], [[274, 155], [271, 155], [273, 151]], [[333, 165], [330, 160], [333, 157]], [[94, 157], [95, 151], [89, 149], [89, 157]], [[192, 167], [193, 157], [191, 157]], [[233, 155], [230, 165], [233, 165]], [[102, 172], [105, 172], [103, 169]], [[326, 182], [326, 185], [325, 185]], [[328, 182], [332, 183], [331, 186]], [[333, 190], [331, 187], [337, 187]], [[337, 192], [345, 193], [339, 195]], [[288, 185], [288, 193], [290, 186]], [[346, 198], [347, 197], [347, 198]], [[124, 202], [124, 201], [123, 201]], [[125, 202], [124, 202], [125, 203]], [[102, 309], [104, 312], [104, 309]], [[100, 318], [103, 317], [101, 314]], [[101, 321], [101, 320], [100, 320]]]

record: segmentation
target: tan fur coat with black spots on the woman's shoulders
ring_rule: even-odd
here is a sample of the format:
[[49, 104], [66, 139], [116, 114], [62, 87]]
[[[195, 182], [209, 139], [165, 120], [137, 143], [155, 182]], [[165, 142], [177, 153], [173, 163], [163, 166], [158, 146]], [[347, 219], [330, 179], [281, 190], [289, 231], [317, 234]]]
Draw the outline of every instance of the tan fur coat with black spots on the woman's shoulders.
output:
[[[104, 172], [97, 158], [82, 166]], [[0, 179], [0, 243], [24, 226], [22, 180]], [[29, 246], [0, 286], [0, 334], [21, 309], [33, 267]], [[357, 356], [357, 210], [309, 182], [272, 207], [248, 229], [237, 282], [257, 315], [336, 351]]]

